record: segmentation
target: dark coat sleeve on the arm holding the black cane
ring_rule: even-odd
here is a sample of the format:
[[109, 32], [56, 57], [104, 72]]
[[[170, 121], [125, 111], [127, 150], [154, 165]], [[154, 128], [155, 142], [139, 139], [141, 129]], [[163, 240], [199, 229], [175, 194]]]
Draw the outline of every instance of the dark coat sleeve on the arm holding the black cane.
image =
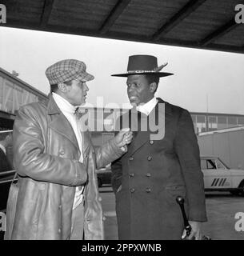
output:
[[204, 182], [200, 164], [198, 140], [194, 133], [190, 113], [187, 110], [182, 111], [178, 120], [175, 150], [186, 183], [189, 220], [206, 222]]

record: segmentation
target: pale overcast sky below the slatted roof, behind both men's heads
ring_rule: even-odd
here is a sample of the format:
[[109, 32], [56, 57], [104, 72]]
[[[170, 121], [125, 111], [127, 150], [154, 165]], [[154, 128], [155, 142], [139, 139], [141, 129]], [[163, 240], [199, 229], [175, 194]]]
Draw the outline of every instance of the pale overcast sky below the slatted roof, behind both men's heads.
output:
[[110, 74], [125, 73], [134, 54], [154, 55], [158, 66], [168, 62], [164, 71], [174, 76], [161, 78], [157, 91], [167, 102], [191, 112], [206, 112], [208, 102], [209, 112], [244, 114], [244, 54], [0, 27], [0, 67], [48, 94], [46, 68], [65, 58], [81, 60], [95, 77], [87, 83], [87, 102], [94, 106], [97, 96], [103, 106], [126, 106], [126, 78]]

